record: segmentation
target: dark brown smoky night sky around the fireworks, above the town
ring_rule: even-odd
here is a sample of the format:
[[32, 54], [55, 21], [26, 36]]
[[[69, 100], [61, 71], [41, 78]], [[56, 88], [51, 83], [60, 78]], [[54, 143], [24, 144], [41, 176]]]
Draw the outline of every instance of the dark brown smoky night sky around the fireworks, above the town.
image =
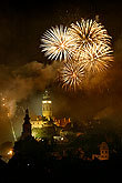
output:
[[[96, 14], [113, 38], [114, 63], [106, 73], [91, 78], [82, 91], [67, 92], [53, 82], [58, 62], [48, 60], [41, 52], [40, 38], [55, 24], [69, 27], [81, 18], [95, 19]], [[22, 110], [28, 106], [31, 114], [40, 114], [41, 95], [48, 85], [54, 115], [70, 116], [79, 123], [93, 118], [109, 119], [122, 128], [121, 20], [121, 1], [0, 2], [0, 93], [10, 103], [17, 133], [23, 122]], [[0, 142], [3, 142], [10, 138], [10, 124], [2, 108], [0, 112]]]

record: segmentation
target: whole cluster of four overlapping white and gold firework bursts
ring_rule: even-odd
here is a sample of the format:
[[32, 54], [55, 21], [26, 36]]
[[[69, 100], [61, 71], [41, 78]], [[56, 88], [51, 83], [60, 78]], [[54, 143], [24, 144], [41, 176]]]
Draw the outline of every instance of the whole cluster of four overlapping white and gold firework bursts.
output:
[[111, 37], [95, 20], [81, 19], [70, 28], [52, 27], [45, 31], [41, 41], [48, 59], [62, 61], [59, 75], [65, 89], [81, 89], [84, 75], [96, 75], [113, 61]]

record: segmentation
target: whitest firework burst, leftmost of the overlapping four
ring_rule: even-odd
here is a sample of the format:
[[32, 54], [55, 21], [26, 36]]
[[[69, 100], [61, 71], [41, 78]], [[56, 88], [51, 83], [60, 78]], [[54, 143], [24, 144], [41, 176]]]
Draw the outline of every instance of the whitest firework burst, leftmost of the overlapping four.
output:
[[42, 48], [42, 52], [45, 52], [48, 59], [60, 59], [61, 61], [71, 57], [71, 48], [74, 47], [74, 44], [72, 43], [71, 37], [68, 34], [67, 27], [52, 27], [45, 31], [41, 41], [43, 44], [40, 47]]

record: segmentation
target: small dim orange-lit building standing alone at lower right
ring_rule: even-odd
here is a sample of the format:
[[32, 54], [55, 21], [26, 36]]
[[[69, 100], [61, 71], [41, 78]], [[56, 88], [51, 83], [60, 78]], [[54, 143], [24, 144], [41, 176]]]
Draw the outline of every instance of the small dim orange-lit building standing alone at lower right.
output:
[[109, 160], [109, 146], [105, 142], [100, 144], [100, 154], [92, 154], [92, 160]]

